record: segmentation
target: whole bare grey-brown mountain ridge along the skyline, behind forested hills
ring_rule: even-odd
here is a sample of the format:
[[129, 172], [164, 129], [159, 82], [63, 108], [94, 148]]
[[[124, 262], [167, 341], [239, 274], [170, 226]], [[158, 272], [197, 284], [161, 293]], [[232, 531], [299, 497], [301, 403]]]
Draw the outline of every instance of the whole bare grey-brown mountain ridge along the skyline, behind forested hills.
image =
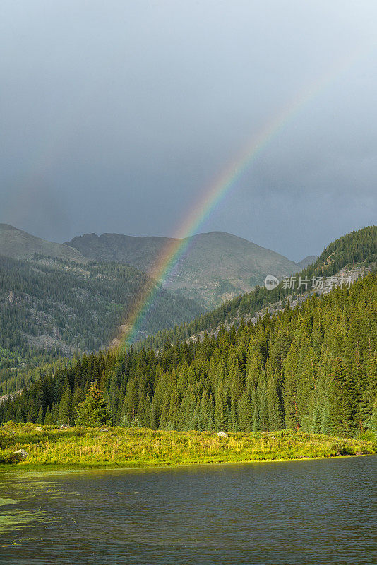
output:
[[263, 283], [266, 275], [282, 277], [294, 273], [299, 263], [276, 251], [228, 232], [213, 231], [184, 239], [131, 236], [115, 233], [83, 234], [63, 244], [28, 234], [9, 224], [0, 224], [0, 255], [32, 260], [35, 254], [64, 261], [123, 263], [152, 276], [166, 249], [180, 244], [186, 252], [167, 273], [164, 287], [195, 300], [204, 309]]

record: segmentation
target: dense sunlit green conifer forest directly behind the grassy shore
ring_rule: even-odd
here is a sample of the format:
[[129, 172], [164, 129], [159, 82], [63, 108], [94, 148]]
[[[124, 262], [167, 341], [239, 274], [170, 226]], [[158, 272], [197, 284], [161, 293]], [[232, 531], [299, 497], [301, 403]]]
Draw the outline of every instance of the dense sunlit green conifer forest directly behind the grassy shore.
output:
[[202, 342], [84, 356], [4, 403], [0, 420], [71, 424], [96, 379], [113, 424], [354, 436], [377, 429], [376, 346], [371, 273]]

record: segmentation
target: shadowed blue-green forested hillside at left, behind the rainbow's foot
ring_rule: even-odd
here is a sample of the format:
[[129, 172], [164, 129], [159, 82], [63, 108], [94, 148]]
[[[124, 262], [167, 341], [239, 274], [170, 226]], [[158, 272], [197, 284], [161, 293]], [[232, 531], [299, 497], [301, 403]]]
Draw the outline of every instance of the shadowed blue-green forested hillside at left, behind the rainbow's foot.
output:
[[[148, 281], [120, 263], [0, 256], [0, 394], [16, 390], [16, 383], [22, 388], [37, 364], [107, 347]], [[200, 312], [195, 302], [161, 288], [138, 337]]]

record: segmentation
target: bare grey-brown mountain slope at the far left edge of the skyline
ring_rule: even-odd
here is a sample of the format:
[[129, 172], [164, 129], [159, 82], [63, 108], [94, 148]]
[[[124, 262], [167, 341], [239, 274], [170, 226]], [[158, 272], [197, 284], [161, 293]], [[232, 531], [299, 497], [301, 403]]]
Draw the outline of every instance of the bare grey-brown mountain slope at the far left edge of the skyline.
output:
[[28, 259], [35, 253], [66, 261], [87, 263], [88, 259], [77, 249], [66, 244], [47, 242], [8, 224], [0, 224], [0, 255]]

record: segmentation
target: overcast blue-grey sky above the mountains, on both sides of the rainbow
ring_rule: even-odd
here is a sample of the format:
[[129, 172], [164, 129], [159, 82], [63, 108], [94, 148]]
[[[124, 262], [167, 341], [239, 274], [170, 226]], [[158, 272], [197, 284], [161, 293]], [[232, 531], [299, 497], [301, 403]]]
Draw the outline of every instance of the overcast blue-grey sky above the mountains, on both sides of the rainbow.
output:
[[376, 223], [376, 20], [375, 0], [2, 0], [0, 222], [173, 236], [309, 90], [198, 232], [299, 260]]

